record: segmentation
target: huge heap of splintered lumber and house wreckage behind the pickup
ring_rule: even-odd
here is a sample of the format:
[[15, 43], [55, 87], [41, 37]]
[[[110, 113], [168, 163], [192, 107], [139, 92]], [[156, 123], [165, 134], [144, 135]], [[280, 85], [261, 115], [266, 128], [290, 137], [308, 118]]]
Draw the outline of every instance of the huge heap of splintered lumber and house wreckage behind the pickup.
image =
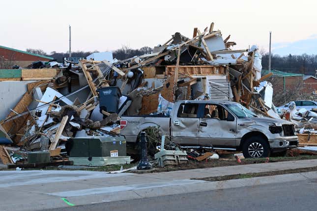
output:
[[[261, 82], [270, 74], [260, 75], [258, 48], [231, 50], [236, 43], [229, 39], [211, 23], [203, 31], [194, 28], [192, 38], [176, 32], [152, 53], [124, 60], [69, 61], [54, 79], [29, 83], [1, 121], [1, 144], [15, 146], [2, 147], [2, 162], [25, 162], [30, 151], [49, 151], [51, 157], [64, 159], [60, 156], [66, 155], [67, 140], [119, 136], [122, 115], [169, 115], [179, 100], [235, 101], [262, 116], [279, 118], [273, 89]], [[43, 65], [34, 63], [32, 68]]]

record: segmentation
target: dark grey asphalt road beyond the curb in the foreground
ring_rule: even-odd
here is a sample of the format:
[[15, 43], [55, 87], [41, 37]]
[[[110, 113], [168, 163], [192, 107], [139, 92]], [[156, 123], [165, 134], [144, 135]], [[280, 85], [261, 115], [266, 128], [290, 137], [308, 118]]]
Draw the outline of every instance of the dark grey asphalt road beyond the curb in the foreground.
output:
[[317, 180], [90, 204], [50, 211], [316, 211]]

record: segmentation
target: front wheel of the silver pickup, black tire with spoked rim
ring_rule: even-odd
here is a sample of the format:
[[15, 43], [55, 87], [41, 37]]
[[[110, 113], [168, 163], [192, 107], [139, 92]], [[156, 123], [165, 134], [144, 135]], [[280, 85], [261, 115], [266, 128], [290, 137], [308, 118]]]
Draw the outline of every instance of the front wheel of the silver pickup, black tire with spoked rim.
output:
[[270, 155], [270, 148], [264, 138], [253, 136], [243, 143], [242, 153], [244, 158], [266, 158]]

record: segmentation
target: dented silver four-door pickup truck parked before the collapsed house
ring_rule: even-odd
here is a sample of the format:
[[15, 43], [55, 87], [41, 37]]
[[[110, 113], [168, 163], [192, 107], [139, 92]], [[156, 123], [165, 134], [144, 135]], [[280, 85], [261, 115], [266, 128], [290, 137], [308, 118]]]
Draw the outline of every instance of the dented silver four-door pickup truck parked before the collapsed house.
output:
[[183, 147], [239, 150], [245, 158], [268, 157], [298, 146], [291, 122], [259, 118], [230, 101], [180, 101], [169, 116], [122, 116], [120, 127], [127, 142], [136, 142], [149, 127], [159, 127]]

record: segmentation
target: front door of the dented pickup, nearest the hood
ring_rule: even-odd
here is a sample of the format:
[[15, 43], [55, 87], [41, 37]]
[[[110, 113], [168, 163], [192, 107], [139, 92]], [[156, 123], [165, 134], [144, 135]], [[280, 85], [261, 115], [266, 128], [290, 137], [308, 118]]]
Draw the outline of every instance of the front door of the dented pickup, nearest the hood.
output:
[[204, 104], [200, 119], [199, 144], [202, 146], [235, 146], [236, 118], [223, 106]]

